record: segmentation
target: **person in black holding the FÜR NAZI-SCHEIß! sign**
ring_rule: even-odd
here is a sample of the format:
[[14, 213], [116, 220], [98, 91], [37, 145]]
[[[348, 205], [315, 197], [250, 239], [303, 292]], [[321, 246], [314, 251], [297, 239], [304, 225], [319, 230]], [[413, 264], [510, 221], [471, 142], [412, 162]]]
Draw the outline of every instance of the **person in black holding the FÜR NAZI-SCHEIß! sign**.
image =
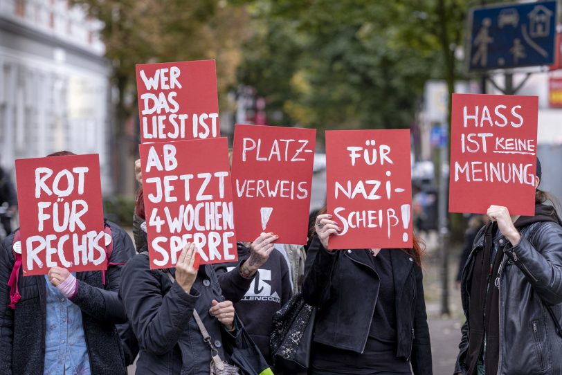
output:
[[331, 214], [316, 217], [302, 285], [305, 302], [320, 308], [309, 374], [433, 374], [419, 241], [329, 250], [341, 230]]

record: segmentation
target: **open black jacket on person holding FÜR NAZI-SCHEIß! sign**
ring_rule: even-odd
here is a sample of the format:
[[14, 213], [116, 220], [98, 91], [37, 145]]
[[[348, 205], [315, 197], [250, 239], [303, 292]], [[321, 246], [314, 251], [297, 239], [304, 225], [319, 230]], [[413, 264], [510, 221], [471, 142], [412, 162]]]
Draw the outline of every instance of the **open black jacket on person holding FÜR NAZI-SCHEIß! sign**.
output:
[[[314, 341], [363, 352], [377, 303], [379, 276], [368, 250], [329, 253], [314, 237], [302, 284], [305, 302], [318, 307]], [[397, 317], [397, 357], [410, 360], [414, 374], [433, 374], [422, 268], [401, 250], [392, 250]]]

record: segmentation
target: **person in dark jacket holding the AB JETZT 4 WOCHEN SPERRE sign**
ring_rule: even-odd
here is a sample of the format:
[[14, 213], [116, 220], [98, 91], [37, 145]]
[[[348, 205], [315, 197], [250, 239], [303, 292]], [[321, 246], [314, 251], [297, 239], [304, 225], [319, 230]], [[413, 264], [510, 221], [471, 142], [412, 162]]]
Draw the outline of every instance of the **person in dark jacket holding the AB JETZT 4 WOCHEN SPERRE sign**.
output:
[[[142, 183], [142, 174], [138, 180]], [[138, 196], [143, 196], [142, 188]], [[143, 199], [136, 204], [136, 213], [145, 219]], [[199, 266], [199, 250], [187, 243], [174, 268], [158, 270], [150, 269], [146, 239], [142, 242], [140, 254], [123, 270], [120, 289], [140, 347], [136, 373], [209, 374], [211, 351], [203, 341], [196, 313], [220, 358], [226, 359], [227, 348], [237, 345], [243, 329], [235, 318], [233, 302], [244, 296], [272, 249], [266, 242], [255, 246], [252, 262], [240, 262], [226, 272], [223, 264]], [[256, 354], [259, 358], [253, 360], [265, 364], [257, 349]]]

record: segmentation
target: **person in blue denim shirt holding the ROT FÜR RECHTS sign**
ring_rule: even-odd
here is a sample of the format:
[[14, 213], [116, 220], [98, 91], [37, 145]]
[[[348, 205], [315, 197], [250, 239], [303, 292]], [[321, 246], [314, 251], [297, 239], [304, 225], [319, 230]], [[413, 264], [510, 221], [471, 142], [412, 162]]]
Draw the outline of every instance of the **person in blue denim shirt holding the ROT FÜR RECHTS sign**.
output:
[[[49, 156], [75, 157], [71, 155]], [[30, 204], [19, 203], [20, 208]], [[21, 221], [21, 228], [28, 224]], [[71, 273], [52, 266], [46, 275], [24, 276], [21, 230], [1, 243], [0, 374], [127, 374], [116, 329], [127, 316], [117, 291], [121, 268], [134, 247], [114, 223], [101, 221], [100, 226], [105, 229], [103, 251], [109, 257], [103, 271]], [[46, 235], [54, 237], [52, 232]]]

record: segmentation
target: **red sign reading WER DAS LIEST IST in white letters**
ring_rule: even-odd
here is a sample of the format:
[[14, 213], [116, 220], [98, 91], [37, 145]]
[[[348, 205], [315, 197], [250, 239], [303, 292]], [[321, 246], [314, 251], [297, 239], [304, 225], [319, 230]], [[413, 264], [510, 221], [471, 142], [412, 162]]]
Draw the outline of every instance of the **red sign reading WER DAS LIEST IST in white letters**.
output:
[[219, 136], [215, 60], [136, 66], [141, 142]]

